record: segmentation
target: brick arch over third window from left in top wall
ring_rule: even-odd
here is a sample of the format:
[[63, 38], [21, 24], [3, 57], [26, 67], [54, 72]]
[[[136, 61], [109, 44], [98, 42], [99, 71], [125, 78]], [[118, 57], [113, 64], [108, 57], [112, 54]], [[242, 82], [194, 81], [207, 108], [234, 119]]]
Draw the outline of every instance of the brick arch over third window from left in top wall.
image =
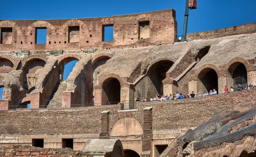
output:
[[76, 25], [80, 26], [80, 31], [84, 31], [85, 34], [89, 34], [89, 29], [88, 29], [87, 25], [83, 21], [78, 20], [78, 19], [72, 19], [72, 20], [65, 22], [61, 26], [59, 34], [62, 35], [68, 26], [76, 26]]

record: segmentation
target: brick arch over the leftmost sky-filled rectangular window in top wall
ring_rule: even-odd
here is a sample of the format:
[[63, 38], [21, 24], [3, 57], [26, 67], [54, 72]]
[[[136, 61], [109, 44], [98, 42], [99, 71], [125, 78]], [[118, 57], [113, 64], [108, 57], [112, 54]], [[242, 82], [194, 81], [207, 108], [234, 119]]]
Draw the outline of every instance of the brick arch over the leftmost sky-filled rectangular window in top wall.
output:
[[47, 21], [36, 21], [29, 25], [26, 29], [26, 35], [30, 35], [31, 31], [34, 31], [36, 27], [47, 27], [47, 32], [55, 33], [55, 27]]

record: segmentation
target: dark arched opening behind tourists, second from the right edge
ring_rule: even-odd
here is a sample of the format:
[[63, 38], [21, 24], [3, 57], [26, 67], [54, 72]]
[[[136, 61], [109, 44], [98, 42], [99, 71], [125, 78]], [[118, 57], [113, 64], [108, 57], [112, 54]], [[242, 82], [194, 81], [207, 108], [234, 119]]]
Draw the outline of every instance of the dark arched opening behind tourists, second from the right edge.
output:
[[203, 95], [213, 89], [218, 92], [218, 75], [215, 70], [207, 67], [198, 74], [197, 92]]

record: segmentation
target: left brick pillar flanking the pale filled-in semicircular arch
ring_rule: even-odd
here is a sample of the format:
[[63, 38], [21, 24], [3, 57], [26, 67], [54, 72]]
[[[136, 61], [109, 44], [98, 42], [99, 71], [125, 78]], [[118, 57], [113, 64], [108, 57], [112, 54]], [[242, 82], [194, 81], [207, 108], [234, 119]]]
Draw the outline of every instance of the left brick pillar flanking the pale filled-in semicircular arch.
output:
[[101, 118], [100, 118], [100, 133], [99, 138], [100, 139], [109, 139], [109, 113], [110, 111], [102, 111]]

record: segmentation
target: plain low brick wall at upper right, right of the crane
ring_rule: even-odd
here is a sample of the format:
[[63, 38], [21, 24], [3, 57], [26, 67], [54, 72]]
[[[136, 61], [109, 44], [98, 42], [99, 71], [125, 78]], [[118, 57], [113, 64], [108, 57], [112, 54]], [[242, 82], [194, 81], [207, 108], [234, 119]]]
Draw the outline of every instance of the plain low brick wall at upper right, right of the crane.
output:
[[198, 40], [198, 39], [213, 39], [224, 36], [232, 36], [237, 34], [247, 34], [256, 32], [256, 22], [247, 23], [244, 25], [236, 25], [233, 27], [221, 28], [212, 31], [204, 31], [197, 33], [187, 34], [187, 40]]

